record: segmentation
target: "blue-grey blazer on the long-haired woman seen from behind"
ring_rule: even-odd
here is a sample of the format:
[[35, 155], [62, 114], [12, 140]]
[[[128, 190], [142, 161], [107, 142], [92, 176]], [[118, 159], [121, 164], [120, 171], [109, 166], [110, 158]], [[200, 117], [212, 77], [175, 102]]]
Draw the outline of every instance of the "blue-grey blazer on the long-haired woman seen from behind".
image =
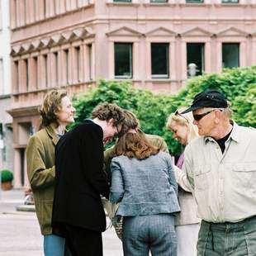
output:
[[148, 159], [121, 155], [111, 161], [111, 202], [120, 202], [117, 216], [141, 216], [180, 211], [178, 185], [169, 154]]

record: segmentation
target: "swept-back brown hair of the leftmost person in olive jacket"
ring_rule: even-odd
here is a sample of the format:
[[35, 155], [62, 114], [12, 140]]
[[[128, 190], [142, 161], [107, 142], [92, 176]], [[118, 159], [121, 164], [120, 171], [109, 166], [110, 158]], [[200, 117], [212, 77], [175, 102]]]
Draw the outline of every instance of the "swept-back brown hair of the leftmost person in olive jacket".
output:
[[67, 96], [67, 92], [64, 90], [52, 90], [45, 95], [44, 102], [39, 109], [41, 116], [40, 129], [50, 124], [55, 124], [55, 127], [59, 126], [57, 111], [61, 110], [61, 100]]

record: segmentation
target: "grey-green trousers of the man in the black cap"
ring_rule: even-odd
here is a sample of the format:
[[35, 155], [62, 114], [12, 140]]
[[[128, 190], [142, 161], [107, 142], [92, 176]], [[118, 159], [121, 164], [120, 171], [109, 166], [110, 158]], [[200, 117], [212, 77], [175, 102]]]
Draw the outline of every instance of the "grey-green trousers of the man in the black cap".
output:
[[256, 216], [237, 223], [201, 220], [198, 256], [255, 256]]

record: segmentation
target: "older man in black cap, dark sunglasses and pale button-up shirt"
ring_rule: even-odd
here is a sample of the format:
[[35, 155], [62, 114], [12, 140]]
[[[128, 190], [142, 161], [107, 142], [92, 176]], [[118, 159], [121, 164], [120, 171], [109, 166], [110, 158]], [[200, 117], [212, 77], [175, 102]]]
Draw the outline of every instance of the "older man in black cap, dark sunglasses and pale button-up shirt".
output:
[[188, 111], [201, 135], [183, 164], [202, 219], [197, 255], [256, 255], [256, 130], [230, 120], [216, 90], [197, 94]]

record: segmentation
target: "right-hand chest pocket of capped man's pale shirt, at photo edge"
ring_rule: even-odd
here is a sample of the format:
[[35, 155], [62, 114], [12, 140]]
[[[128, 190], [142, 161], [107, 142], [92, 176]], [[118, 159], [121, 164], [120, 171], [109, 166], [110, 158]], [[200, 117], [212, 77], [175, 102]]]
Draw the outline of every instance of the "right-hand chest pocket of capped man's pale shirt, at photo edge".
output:
[[256, 162], [234, 164], [232, 171], [236, 186], [256, 189]]

